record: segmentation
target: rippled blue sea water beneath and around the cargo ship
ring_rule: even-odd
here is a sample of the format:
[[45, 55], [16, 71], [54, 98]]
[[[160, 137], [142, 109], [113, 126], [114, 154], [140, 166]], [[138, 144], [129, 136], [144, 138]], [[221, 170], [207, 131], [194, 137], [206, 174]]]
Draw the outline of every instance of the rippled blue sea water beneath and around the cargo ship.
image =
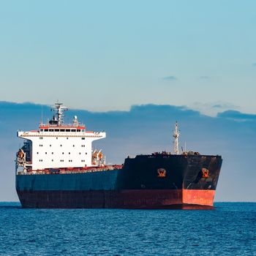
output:
[[256, 203], [215, 207], [23, 209], [0, 203], [0, 255], [256, 255]]

